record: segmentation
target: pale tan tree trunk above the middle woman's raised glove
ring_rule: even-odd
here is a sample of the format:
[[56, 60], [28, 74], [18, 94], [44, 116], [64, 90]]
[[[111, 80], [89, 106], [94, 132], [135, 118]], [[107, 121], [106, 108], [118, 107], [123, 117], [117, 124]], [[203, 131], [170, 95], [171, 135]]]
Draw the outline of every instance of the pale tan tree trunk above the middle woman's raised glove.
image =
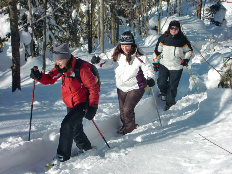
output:
[[104, 53], [104, 0], [100, 0], [100, 46]]

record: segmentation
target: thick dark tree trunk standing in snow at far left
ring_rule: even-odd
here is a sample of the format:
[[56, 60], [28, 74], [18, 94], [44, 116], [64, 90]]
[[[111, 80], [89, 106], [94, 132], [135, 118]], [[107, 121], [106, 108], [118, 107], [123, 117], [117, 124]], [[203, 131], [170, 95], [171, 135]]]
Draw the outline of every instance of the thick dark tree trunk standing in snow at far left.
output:
[[12, 47], [12, 92], [21, 90], [20, 85], [20, 53], [19, 53], [19, 30], [17, 0], [9, 0], [10, 30]]

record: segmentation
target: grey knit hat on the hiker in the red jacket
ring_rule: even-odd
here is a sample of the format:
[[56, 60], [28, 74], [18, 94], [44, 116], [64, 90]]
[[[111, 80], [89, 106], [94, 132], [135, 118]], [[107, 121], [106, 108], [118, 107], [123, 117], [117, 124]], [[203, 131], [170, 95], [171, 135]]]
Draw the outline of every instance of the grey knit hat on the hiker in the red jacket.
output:
[[56, 44], [53, 47], [53, 58], [54, 60], [62, 60], [71, 58], [71, 52], [69, 50], [68, 44]]

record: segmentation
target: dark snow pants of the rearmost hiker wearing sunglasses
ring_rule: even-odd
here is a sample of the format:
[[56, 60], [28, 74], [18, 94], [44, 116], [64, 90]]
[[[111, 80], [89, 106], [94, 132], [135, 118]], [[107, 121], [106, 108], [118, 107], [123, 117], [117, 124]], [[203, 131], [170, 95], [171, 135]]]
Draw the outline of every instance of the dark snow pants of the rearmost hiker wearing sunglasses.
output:
[[160, 64], [157, 85], [160, 92], [166, 94], [167, 107], [171, 107], [176, 103], [175, 98], [182, 71], [183, 69], [168, 70], [165, 66]]

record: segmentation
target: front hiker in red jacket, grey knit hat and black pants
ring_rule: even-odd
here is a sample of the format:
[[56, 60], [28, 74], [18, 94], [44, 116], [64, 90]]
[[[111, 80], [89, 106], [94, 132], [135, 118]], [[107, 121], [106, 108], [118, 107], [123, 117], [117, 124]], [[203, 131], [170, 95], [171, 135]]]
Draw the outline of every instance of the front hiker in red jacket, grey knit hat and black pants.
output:
[[54, 84], [62, 78], [61, 94], [67, 106], [67, 115], [60, 128], [60, 139], [54, 163], [70, 159], [73, 140], [77, 147], [83, 150], [92, 148], [89, 139], [83, 131], [83, 117], [92, 120], [95, 116], [99, 102], [99, 85], [96, 82], [87, 63], [80, 66], [81, 82], [75, 78], [76, 58], [71, 55], [68, 44], [56, 45], [53, 48], [55, 67], [44, 74], [32, 68], [30, 77], [38, 82], [48, 85]]

